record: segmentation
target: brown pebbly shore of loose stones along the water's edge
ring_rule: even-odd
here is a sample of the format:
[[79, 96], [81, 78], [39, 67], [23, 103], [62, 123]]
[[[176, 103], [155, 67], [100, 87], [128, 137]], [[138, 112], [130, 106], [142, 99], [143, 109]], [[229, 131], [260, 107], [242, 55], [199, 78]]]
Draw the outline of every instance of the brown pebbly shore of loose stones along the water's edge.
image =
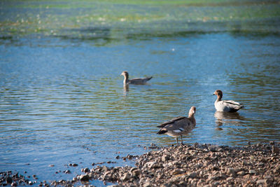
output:
[[[241, 147], [194, 144], [156, 148], [144, 155], [127, 155], [135, 167], [97, 165], [83, 168], [71, 181], [37, 183], [38, 186], [79, 186], [90, 180], [113, 186], [280, 186], [279, 143]], [[120, 158], [118, 158], [120, 159]], [[21, 177], [21, 178], [20, 178]], [[21, 180], [21, 182], [20, 182]], [[15, 174], [1, 173], [0, 185], [30, 185]]]

